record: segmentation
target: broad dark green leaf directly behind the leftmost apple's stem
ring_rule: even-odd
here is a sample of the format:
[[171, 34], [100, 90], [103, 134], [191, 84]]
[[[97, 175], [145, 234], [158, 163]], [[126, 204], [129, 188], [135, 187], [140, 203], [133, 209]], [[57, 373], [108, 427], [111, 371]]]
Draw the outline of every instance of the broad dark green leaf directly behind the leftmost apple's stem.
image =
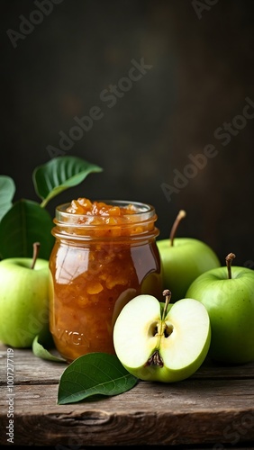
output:
[[38, 202], [19, 200], [0, 222], [1, 257], [32, 257], [33, 243], [40, 242], [39, 257], [50, 258], [54, 244], [53, 220]]

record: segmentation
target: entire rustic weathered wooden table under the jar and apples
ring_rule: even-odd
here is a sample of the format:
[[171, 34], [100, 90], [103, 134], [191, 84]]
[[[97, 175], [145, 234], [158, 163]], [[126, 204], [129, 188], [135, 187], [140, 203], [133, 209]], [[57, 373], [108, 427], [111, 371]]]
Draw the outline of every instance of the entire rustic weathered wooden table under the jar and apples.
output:
[[[8, 356], [14, 371], [7, 370]], [[0, 345], [1, 447], [254, 448], [254, 364], [206, 359], [179, 383], [140, 382], [118, 396], [60, 406], [59, 377], [66, 367]]]

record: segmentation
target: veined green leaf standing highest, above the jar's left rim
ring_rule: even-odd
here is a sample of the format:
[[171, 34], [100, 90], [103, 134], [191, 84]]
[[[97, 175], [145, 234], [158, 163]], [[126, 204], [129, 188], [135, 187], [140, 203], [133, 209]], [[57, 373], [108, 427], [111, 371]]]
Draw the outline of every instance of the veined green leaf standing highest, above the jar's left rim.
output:
[[35, 192], [45, 206], [50, 199], [80, 184], [91, 172], [101, 172], [100, 166], [91, 164], [80, 157], [54, 157], [48, 163], [33, 170], [32, 181]]

